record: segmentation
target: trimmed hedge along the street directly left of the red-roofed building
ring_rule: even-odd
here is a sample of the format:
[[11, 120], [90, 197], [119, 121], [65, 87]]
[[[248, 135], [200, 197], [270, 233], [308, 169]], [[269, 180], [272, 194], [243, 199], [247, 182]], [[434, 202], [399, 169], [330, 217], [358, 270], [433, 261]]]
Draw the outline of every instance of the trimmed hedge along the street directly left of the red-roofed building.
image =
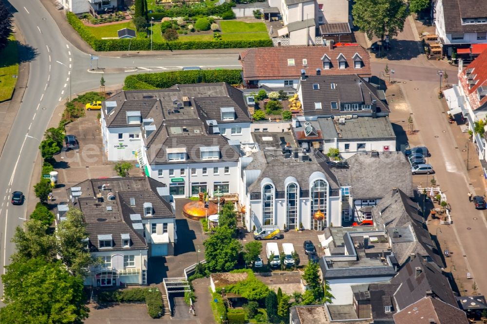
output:
[[154, 90], [170, 88], [175, 84], [192, 83], [239, 84], [241, 70], [189, 70], [160, 73], [132, 74], [125, 78], [124, 90]]

